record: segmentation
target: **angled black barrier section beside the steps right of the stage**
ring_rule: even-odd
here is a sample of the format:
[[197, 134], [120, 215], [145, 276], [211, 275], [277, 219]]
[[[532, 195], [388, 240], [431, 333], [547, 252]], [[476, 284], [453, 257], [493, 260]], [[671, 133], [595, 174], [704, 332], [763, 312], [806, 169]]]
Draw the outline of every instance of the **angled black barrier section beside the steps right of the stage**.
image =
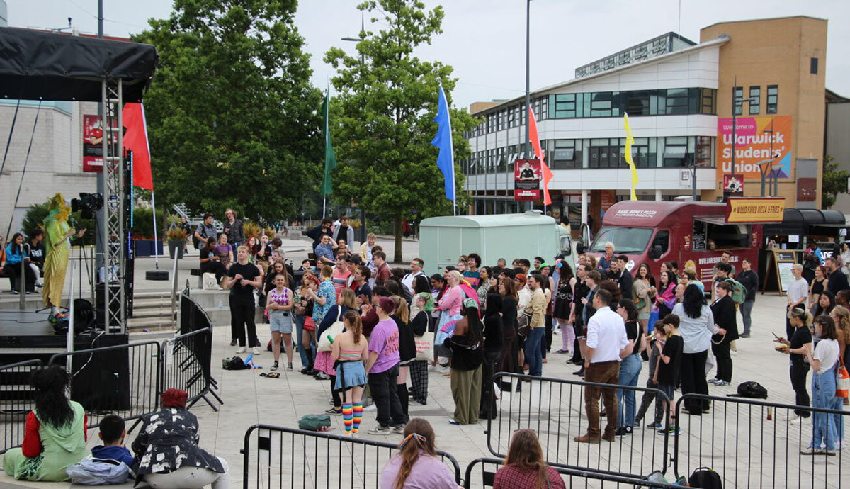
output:
[[[210, 365], [208, 353], [212, 348], [212, 329], [205, 327], [192, 333], [181, 334], [162, 342], [161, 391], [184, 389], [189, 395], [187, 406], [200, 399], [207, 400], [210, 392]], [[203, 359], [206, 358], [206, 363]], [[214, 411], [218, 411], [207, 400]]]

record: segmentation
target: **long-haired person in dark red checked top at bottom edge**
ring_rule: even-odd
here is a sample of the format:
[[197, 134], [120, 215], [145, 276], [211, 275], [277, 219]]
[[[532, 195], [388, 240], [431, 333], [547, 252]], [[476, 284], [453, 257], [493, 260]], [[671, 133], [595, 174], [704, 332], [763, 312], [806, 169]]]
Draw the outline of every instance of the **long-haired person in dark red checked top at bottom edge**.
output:
[[543, 449], [537, 435], [531, 429], [518, 429], [513, 433], [511, 446], [507, 448], [505, 465], [496, 471], [493, 489], [565, 488], [564, 479], [558, 470], [549, 467], [543, 458]]

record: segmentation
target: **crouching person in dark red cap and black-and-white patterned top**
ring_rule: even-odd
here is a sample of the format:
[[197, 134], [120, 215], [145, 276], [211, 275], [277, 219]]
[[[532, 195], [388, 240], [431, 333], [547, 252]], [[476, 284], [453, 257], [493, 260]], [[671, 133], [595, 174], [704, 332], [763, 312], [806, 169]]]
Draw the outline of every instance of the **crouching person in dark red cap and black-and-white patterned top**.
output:
[[185, 390], [167, 389], [161, 409], [142, 418], [142, 429], [133, 441], [136, 480], [154, 488], [180, 487], [228, 489], [228, 466], [198, 446], [199, 426], [195, 414], [186, 409]]

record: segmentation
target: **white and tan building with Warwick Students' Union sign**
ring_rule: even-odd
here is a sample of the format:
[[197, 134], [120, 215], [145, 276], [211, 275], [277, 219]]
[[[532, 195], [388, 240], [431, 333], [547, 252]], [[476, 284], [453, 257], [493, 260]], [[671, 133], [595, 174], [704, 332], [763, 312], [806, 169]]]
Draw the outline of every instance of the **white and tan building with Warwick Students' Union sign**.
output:
[[[775, 41], [776, 36], [783, 40]], [[819, 195], [825, 43], [825, 20], [723, 23], [700, 31], [698, 44], [671, 32], [582, 66], [576, 70], [580, 77], [535, 91], [532, 108], [554, 174], [548, 210], [556, 217], [569, 215], [574, 225], [598, 225], [606, 208], [630, 198], [625, 113], [635, 139], [639, 199], [695, 194], [713, 201], [723, 197], [727, 174], [743, 181], [745, 196], [761, 195], [760, 175], [752, 170], [762, 168], [757, 162], [775, 159], [774, 168], [780, 162], [790, 167], [776, 170], [786, 206], [799, 202], [808, 207], [808, 194], [797, 198], [795, 187], [804, 179]], [[785, 55], [774, 57], [778, 52]], [[748, 59], [769, 66], [755, 61], [747, 65]], [[809, 75], [813, 66], [817, 72]], [[726, 119], [732, 117], [736, 76], [735, 94], [751, 100], [739, 102], [733, 170], [731, 123]], [[812, 103], [818, 93], [818, 103]], [[524, 97], [472, 111], [483, 122], [467, 134], [472, 156], [461, 162], [473, 196], [470, 211], [519, 210], [524, 202], [514, 202], [513, 161], [524, 157]], [[819, 128], [808, 128], [818, 117]], [[536, 207], [542, 208], [541, 202]]]

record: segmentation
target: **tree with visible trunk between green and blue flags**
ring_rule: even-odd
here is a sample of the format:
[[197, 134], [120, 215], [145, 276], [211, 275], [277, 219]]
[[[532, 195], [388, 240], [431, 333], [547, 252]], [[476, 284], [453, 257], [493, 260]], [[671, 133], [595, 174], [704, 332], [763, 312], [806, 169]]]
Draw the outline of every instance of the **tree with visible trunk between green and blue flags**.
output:
[[[401, 261], [403, 219], [451, 213], [445, 199], [443, 174], [437, 168], [437, 149], [431, 139], [437, 133], [439, 84], [446, 97], [456, 80], [452, 68], [439, 62], [419, 60], [414, 51], [442, 32], [443, 9], [426, 12], [415, 0], [380, 0], [361, 3], [358, 9], [382, 18], [382, 31], [360, 32], [360, 56], [348, 56], [331, 48], [325, 61], [337, 69], [332, 78], [337, 90], [331, 102], [333, 134], [339, 166], [333, 188], [343, 200], [353, 200], [370, 213], [394, 219], [394, 261]], [[456, 160], [469, 155], [463, 139], [477, 122], [465, 110], [451, 111]], [[467, 202], [463, 174], [455, 168], [457, 205]]]

